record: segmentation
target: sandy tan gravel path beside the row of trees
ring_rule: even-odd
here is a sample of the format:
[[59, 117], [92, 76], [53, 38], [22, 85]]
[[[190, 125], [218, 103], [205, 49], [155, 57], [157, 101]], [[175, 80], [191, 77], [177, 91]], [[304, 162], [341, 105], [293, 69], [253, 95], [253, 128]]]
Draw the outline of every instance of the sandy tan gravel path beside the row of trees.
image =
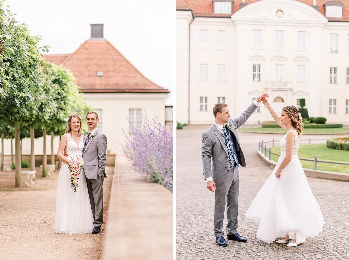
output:
[[[40, 171], [39, 168], [36, 169]], [[54, 234], [58, 172], [37, 177], [35, 186], [14, 188], [14, 171], [0, 172], [1, 259], [99, 259], [109, 204], [113, 167], [104, 179], [104, 223], [99, 234]], [[39, 174], [38, 174], [39, 175]]]

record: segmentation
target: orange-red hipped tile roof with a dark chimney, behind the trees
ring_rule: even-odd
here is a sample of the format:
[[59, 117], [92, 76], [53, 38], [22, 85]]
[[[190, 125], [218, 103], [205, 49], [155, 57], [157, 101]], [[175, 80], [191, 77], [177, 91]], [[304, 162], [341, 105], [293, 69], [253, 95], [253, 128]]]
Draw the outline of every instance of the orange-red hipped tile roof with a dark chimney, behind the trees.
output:
[[[110, 42], [90, 38], [72, 54], [44, 55], [54, 64], [62, 64], [74, 74], [82, 92], [165, 92], [138, 71]], [[97, 77], [103, 71], [103, 77]]]

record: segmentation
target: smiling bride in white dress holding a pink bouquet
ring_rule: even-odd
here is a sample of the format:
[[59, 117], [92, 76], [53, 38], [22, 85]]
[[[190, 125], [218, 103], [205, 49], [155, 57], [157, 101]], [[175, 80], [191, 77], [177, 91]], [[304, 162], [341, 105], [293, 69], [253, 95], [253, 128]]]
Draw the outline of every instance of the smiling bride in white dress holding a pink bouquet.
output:
[[80, 116], [69, 116], [65, 135], [59, 143], [57, 157], [63, 162], [58, 176], [56, 214], [53, 232], [57, 234], [82, 234], [91, 233], [93, 229], [93, 216], [87, 191], [86, 177], [83, 170], [76, 192], [70, 184], [70, 171], [68, 164], [70, 156], [64, 157], [63, 151], [67, 150], [72, 156], [81, 157], [84, 147], [84, 136], [81, 134], [82, 125]]

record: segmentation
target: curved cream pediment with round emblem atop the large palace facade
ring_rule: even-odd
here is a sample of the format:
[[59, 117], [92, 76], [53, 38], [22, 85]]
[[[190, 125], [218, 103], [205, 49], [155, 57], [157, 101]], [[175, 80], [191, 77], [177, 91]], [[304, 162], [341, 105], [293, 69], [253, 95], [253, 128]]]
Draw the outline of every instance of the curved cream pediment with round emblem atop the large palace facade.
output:
[[[279, 10], [282, 13], [278, 12]], [[276, 14], [278, 12], [278, 14]], [[318, 10], [295, 0], [263, 0], [250, 3], [231, 16], [233, 21], [326, 23]]]

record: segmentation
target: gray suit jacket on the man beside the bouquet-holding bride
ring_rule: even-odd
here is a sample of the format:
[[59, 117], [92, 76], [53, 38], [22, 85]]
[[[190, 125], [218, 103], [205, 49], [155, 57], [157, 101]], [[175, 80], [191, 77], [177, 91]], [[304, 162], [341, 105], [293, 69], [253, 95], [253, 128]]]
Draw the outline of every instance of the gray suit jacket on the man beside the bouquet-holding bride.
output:
[[84, 173], [87, 179], [95, 180], [97, 175], [106, 177], [105, 174], [105, 162], [106, 162], [106, 149], [107, 149], [107, 137], [96, 130], [95, 136], [91, 138], [90, 142], [86, 145], [85, 151], [82, 154], [84, 160]]

